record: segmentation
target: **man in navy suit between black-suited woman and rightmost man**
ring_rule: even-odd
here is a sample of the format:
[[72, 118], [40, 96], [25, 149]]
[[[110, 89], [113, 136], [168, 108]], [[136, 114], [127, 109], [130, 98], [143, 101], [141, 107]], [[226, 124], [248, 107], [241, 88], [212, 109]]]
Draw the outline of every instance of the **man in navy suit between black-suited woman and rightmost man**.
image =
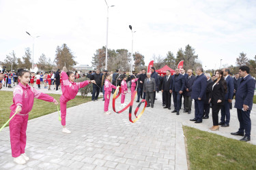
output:
[[[221, 125], [222, 127], [228, 127], [229, 126], [229, 120], [230, 120], [230, 105], [232, 104], [233, 99], [233, 78], [229, 75], [230, 71], [229, 69], [223, 69], [223, 76], [224, 79], [227, 82], [227, 93], [225, 95], [225, 102], [223, 107], [221, 108], [221, 122], [218, 123], [218, 125]], [[226, 120], [225, 120], [226, 119]]]

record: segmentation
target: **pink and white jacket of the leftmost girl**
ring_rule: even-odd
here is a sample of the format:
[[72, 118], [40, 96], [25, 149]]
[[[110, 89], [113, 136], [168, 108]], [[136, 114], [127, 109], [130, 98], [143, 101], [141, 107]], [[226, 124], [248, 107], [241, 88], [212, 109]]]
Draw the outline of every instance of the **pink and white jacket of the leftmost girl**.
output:
[[55, 102], [53, 97], [35, 90], [35, 88], [29, 86], [28, 84], [24, 86], [23, 84], [18, 83], [18, 86], [14, 88], [14, 97], [12, 99], [14, 103], [11, 105], [10, 109], [12, 112], [15, 112], [17, 105], [20, 105], [22, 110], [19, 114], [28, 114], [33, 107], [34, 98], [48, 102]]

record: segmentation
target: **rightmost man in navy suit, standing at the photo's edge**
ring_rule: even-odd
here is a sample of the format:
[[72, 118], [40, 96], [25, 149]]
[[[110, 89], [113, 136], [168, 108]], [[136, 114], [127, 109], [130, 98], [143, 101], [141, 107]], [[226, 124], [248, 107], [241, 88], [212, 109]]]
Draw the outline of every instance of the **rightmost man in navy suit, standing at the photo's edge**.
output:
[[[240, 135], [244, 138], [240, 141], [251, 140], [251, 118], [250, 113], [253, 109], [253, 96], [255, 90], [255, 80], [251, 77], [250, 69], [247, 66], [241, 66], [239, 73], [242, 76], [242, 80], [238, 86], [236, 93], [235, 107], [238, 111], [238, 120], [240, 122], [240, 128], [236, 133], [231, 135]], [[245, 135], [244, 135], [245, 130]]]

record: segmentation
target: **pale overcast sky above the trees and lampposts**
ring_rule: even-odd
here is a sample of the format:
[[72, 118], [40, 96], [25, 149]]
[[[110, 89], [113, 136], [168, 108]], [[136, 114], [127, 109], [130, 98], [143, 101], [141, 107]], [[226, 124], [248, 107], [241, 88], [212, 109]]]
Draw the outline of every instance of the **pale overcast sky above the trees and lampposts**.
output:
[[[246, 0], [107, 0], [109, 48], [125, 48], [145, 56], [177, 54], [190, 44], [203, 67], [217, 69], [236, 65], [240, 52], [256, 55], [256, 1]], [[91, 56], [106, 46], [106, 3], [104, 0], [0, 0], [0, 61], [14, 50], [22, 57], [25, 48], [34, 60], [44, 53], [55, 58], [57, 46], [67, 44], [79, 65], [91, 65]], [[157, 68], [158, 69], [158, 68]]]

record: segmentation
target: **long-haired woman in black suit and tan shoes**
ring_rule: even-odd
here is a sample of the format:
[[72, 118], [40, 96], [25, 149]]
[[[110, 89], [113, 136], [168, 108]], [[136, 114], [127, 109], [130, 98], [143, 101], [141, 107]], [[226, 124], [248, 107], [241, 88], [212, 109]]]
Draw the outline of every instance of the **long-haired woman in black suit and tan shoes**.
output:
[[210, 128], [212, 131], [218, 131], [218, 112], [224, 105], [225, 93], [227, 92], [227, 82], [224, 80], [223, 71], [218, 70], [215, 73], [214, 82], [212, 83], [212, 92], [210, 103], [212, 103], [212, 122], [213, 126]]

